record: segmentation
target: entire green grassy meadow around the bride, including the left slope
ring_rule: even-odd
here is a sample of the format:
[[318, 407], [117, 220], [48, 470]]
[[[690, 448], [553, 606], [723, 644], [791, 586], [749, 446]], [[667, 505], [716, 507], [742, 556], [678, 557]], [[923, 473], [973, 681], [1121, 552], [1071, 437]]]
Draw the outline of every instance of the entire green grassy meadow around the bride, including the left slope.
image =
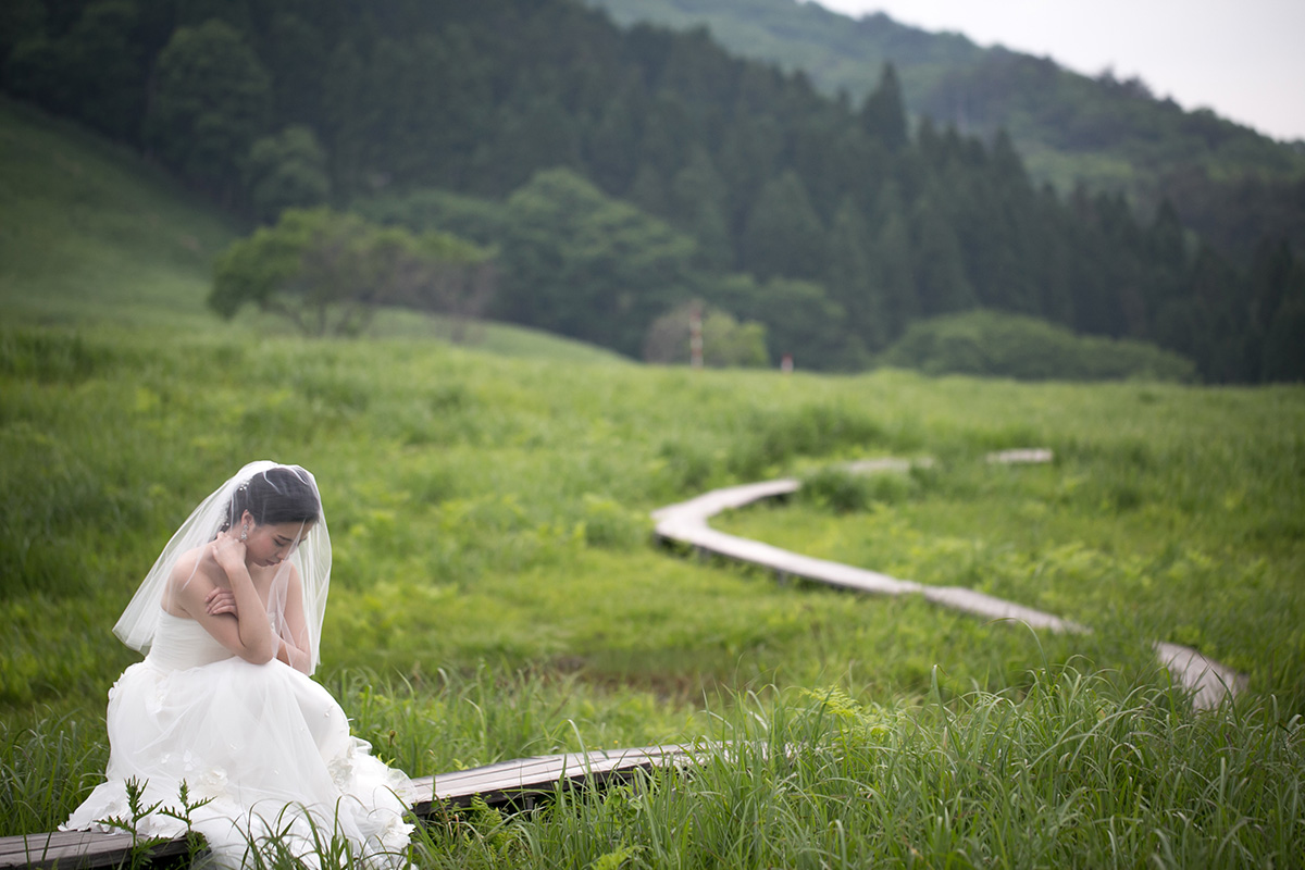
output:
[[[650, 368], [384, 313], [309, 340], [204, 307], [245, 228], [0, 104], [0, 833], [103, 771], [110, 629], [193, 505], [311, 468], [317, 678], [412, 775], [720, 743], [692, 772], [479, 809], [418, 866], [1302, 866], [1305, 390]], [[989, 464], [1051, 447], [1047, 466]], [[853, 477], [851, 459], [930, 458]], [[1074, 620], [1058, 637], [692, 558], [650, 511]], [[1194, 712], [1150, 643], [1248, 694]], [[329, 861], [326, 862], [329, 866]]]

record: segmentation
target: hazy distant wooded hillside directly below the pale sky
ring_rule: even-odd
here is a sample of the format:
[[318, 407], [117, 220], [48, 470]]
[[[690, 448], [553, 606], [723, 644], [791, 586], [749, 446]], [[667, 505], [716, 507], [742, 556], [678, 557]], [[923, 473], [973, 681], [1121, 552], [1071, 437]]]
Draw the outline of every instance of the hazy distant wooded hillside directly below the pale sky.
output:
[[[629, 26], [706, 27], [733, 52], [804, 70], [829, 94], [863, 99], [893, 63], [908, 111], [990, 138], [1005, 129], [1037, 180], [1126, 190], [1143, 213], [1168, 197], [1207, 237], [1249, 254], [1254, 239], [1206, 201], [1253, 200], [1262, 222], [1305, 243], [1305, 206], [1293, 188], [1265, 192], [1254, 179], [1305, 179], [1305, 146], [1280, 143], [1207, 110], [1184, 111], [1144, 82], [1082, 76], [1054, 63], [963, 35], [900, 25], [882, 13], [853, 20], [796, 0], [587, 0]], [[1282, 200], [1295, 203], [1280, 215]], [[1215, 211], [1215, 214], [1207, 214]], [[1263, 227], [1263, 223], [1262, 223]]]

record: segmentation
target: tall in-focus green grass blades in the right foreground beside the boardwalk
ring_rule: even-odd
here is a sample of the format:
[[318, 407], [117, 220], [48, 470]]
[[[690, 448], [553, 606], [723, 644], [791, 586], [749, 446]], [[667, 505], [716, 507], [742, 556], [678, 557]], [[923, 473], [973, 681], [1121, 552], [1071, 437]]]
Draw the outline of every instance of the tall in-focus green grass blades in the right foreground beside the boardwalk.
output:
[[[838, 689], [752, 697], [703, 760], [504, 819], [445, 822], [422, 866], [1300, 866], [1305, 730], [1193, 713], [1074, 669], [916, 710]], [[716, 749], [713, 749], [716, 747]]]

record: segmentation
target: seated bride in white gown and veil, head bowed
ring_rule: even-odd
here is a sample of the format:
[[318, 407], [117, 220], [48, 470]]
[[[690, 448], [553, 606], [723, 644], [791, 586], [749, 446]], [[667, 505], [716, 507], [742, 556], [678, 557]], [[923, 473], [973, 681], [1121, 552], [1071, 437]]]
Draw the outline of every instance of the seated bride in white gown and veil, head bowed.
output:
[[[185, 817], [224, 867], [256, 849], [312, 861], [333, 841], [351, 862], [403, 866], [411, 783], [350, 736], [339, 704], [308, 678], [329, 579], [309, 472], [256, 462], [209, 496], [114, 626], [147, 655], [108, 693], [106, 781], [63, 830], [116, 820], [171, 839]], [[144, 818], [133, 819], [129, 784], [153, 807]]]

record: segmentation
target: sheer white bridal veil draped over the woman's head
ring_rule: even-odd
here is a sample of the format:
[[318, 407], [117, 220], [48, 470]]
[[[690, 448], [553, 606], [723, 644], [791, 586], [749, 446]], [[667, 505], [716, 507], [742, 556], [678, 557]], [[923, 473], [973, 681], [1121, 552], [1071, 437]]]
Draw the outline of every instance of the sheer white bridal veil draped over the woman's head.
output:
[[[312, 673], [317, 668], [318, 650], [321, 644], [322, 618], [326, 614], [326, 592], [330, 586], [330, 535], [326, 532], [326, 515], [321, 511], [321, 494], [317, 490], [317, 481], [312, 473], [299, 466], [282, 466], [275, 462], [252, 462], [222, 487], [214, 490], [200, 506], [191, 513], [181, 527], [176, 530], [172, 539], [163, 548], [154, 567], [145, 575], [145, 580], [136, 595], [132, 596], [123, 616], [114, 626], [123, 643], [149, 652], [154, 642], [154, 633], [158, 629], [159, 617], [163, 613], [163, 596], [168, 590], [168, 578], [181, 556], [211, 541], [219, 530], [227, 528], [239, 517], [230, 517], [232, 511], [232, 498], [238, 490], [248, 487], [256, 476], [265, 476], [274, 468], [282, 468], [294, 473], [299, 480], [312, 489], [317, 497], [317, 522], [312, 524], [305, 535], [299, 540], [291, 554], [279, 565], [271, 591], [268, 595], [268, 618], [273, 630], [279, 630], [286, 613], [286, 595], [290, 586], [290, 566], [299, 570], [304, 596], [304, 621], [308, 626], [309, 638], [309, 667]], [[270, 479], [269, 479], [270, 480]]]

